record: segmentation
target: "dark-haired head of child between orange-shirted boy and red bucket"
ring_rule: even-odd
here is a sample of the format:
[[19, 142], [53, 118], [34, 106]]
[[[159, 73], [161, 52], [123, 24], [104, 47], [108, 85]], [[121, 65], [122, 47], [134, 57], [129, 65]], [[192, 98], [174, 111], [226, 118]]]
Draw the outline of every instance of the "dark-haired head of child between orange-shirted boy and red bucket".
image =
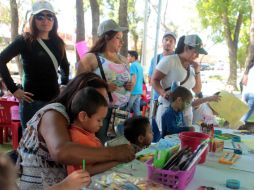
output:
[[149, 146], [153, 139], [153, 132], [148, 118], [134, 116], [127, 119], [124, 122], [124, 136], [130, 141], [135, 152]]

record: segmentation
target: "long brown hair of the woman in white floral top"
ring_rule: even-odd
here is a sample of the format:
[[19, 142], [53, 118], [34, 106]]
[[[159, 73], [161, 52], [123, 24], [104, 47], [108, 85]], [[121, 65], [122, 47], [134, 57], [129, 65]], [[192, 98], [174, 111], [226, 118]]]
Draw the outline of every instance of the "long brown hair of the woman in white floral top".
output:
[[108, 31], [104, 33], [99, 39], [95, 42], [95, 44], [91, 47], [90, 53], [102, 53], [106, 49], [107, 42], [114, 38], [117, 34], [115, 31]]

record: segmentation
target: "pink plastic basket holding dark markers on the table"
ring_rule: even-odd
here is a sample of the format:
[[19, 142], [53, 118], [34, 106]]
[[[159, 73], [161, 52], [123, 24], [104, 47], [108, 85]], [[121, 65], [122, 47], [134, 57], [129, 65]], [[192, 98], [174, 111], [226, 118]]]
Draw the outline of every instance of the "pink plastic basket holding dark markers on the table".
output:
[[186, 188], [196, 170], [196, 165], [193, 165], [188, 171], [163, 170], [153, 167], [152, 163], [153, 159], [146, 162], [148, 179], [177, 190]]

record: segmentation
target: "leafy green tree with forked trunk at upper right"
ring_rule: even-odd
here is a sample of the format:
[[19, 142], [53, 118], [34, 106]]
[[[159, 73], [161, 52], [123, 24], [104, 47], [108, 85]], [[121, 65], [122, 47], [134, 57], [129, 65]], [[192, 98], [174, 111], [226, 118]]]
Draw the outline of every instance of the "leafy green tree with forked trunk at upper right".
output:
[[249, 0], [198, 0], [197, 9], [205, 28], [212, 29], [215, 42], [224, 38], [228, 46], [230, 74], [228, 84], [237, 89], [237, 51], [242, 25], [250, 16]]

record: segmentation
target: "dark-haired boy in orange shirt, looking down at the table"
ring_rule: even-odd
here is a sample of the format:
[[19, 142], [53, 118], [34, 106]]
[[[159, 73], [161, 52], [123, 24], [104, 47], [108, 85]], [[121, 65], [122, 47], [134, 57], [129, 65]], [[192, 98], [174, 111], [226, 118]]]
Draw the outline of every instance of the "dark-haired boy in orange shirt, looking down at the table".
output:
[[[103, 125], [103, 119], [108, 111], [108, 103], [105, 97], [92, 87], [79, 90], [71, 102], [71, 113], [74, 124], [70, 128], [72, 142], [87, 145], [90, 147], [102, 147], [100, 140], [95, 133]], [[91, 175], [104, 172], [118, 162], [109, 161], [91, 164], [87, 162], [86, 169]], [[81, 169], [81, 165], [69, 165], [68, 173]]]

